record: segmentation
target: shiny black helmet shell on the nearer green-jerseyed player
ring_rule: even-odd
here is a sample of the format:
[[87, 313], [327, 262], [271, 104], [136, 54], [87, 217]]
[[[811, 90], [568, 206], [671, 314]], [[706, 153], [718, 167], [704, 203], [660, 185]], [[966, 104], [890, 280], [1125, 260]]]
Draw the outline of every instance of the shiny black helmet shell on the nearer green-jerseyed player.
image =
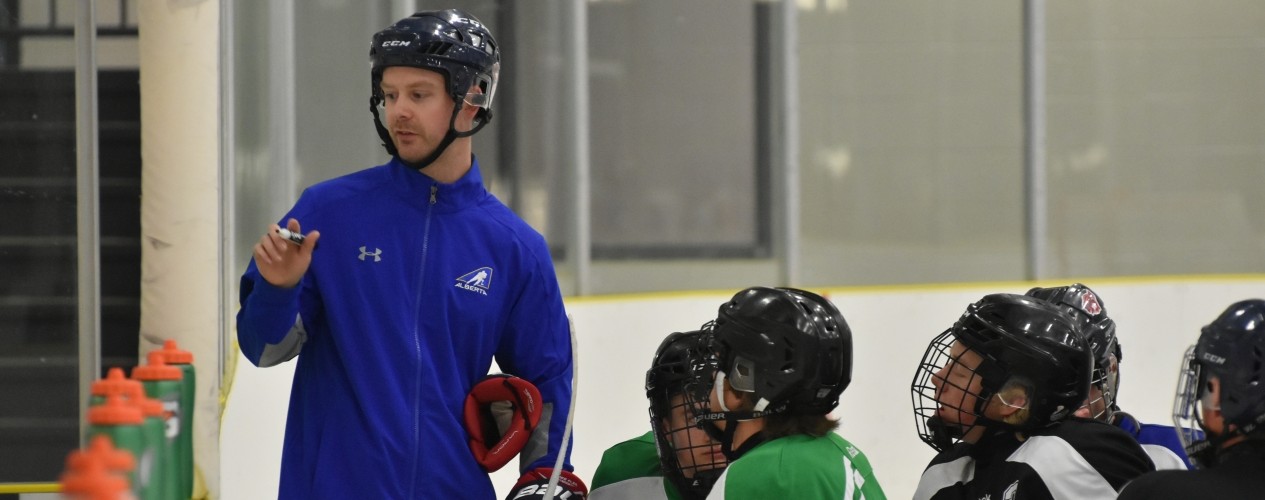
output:
[[851, 381], [853, 335], [825, 297], [755, 286], [720, 306], [713, 330], [720, 370], [756, 399], [756, 411], [825, 415]]

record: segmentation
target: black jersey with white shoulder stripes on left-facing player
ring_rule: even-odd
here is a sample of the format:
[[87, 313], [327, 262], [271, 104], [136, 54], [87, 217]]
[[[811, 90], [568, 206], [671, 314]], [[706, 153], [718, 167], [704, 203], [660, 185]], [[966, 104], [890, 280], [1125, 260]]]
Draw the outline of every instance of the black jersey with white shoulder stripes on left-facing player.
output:
[[922, 472], [915, 500], [1116, 499], [1154, 471], [1146, 452], [1120, 428], [1069, 419], [1020, 439], [1001, 432], [941, 452]]

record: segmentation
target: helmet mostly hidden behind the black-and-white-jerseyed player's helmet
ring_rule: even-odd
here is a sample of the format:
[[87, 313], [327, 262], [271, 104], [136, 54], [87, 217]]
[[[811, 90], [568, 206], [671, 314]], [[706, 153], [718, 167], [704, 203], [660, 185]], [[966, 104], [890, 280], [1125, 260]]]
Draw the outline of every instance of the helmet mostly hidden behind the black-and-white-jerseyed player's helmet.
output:
[[1107, 315], [1107, 306], [1103, 305], [1102, 297], [1083, 284], [1035, 287], [1028, 290], [1026, 295], [1061, 306], [1064, 311], [1080, 323], [1080, 332], [1085, 335], [1089, 349], [1094, 353], [1092, 384], [1102, 394], [1101, 403], [1088, 401], [1090, 408], [1101, 408], [1090, 416], [1111, 422], [1114, 413], [1120, 410], [1120, 406], [1116, 405], [1116, 399], [1120, 395], [1120, 371], [1116, 366], [1123, 354], [1120, 342], [1116, 339], [1116, 322]]

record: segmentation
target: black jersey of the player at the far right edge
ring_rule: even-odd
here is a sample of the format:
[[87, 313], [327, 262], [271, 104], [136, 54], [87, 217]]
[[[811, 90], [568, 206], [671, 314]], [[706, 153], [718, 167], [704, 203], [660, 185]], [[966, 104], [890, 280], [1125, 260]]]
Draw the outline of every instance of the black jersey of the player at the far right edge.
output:
[[1198, 471], [1159, 471], [1138, 477], [1121, 491], [1128, 499], [1260, 499], [1265, 497], [1265, 442], [1247, 441], [1226, 448], [1217, 463]]

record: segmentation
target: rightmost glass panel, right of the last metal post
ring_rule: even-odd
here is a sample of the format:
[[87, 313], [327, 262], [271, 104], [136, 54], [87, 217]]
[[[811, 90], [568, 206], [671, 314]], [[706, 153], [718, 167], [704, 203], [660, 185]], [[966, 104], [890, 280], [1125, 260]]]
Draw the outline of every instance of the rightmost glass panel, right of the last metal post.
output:
[[1265, 5], [1046, 8], [1049, 271], [1265, 271]]

